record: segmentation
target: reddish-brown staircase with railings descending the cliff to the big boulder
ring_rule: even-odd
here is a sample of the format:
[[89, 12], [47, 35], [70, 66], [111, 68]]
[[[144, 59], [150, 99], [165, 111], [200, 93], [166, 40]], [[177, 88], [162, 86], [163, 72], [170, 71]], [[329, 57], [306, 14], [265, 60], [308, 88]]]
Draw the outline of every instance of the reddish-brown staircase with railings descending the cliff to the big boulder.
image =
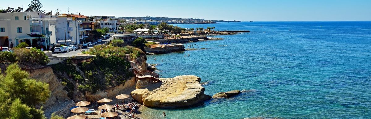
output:
[[131, 59], [129, 54], [125, 54], [125, 58], [129, 61], [135, 77], [139, 79], [150, 79], [151, 81], [160, 81], [161, 75], [152, 71], [142, 72], [142, 68], [140, 67], [140, 65], [137, 64], [135, 59]]

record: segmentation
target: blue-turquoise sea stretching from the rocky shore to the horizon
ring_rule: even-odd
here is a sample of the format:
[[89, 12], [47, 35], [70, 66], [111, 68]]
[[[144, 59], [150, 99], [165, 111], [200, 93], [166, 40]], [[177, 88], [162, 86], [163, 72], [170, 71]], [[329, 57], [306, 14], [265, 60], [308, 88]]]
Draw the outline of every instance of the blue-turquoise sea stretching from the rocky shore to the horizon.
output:
[[148, 55], [148, 63], [159, 64], [162, 77], [196, 75], [209, 82], [204, 87], [211, 96], [229, 90], [250, 92], [194, 108], [142, 112], [151, 118], [162, 118], [162, 111], [168, 119], [371, 118], [371, 22], [177, 26], [251, 32], [187, 43], [207, 49]]

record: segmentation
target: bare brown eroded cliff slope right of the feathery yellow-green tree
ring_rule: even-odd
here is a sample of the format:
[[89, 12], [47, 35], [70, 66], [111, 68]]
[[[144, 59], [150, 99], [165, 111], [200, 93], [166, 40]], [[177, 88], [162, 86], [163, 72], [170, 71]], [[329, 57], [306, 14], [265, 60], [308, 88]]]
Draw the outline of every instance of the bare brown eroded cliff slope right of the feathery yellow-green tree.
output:
[[57, 79], [56, 75], [53, 73], [53, 69], [49, 66], [40, 69], [31, 69], [28, 70], [28, 72], [30, 74], [30, 78], [49, 84], [51, 95], [49, 100], [43, 104], [44, 107], [54, 105], [58, 101], [69, 99], [67, 96], [67, 91], [64, 90], [65, 86], [63, 86], [61, 81]]

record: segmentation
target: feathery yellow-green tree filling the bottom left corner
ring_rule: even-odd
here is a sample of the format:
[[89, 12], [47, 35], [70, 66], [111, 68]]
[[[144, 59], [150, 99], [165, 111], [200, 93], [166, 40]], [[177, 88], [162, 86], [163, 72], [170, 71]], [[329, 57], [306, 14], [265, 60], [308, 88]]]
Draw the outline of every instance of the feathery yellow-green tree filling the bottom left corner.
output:
[[0, 75], [0, 119], [46, 119], [35, 105], [50, 97], [49, 84], [29, 79], [16, 64]]

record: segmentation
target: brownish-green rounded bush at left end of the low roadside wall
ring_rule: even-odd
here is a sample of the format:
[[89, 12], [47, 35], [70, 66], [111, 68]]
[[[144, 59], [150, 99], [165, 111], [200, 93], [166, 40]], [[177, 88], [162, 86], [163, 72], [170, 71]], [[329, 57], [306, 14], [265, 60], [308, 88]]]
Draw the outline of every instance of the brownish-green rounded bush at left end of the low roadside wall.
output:
[[14, 53], [18, 62], [34, 62], [46, 65], [50, 61], [43, 51], [34, 47], [31, 49], [14, 49]]

